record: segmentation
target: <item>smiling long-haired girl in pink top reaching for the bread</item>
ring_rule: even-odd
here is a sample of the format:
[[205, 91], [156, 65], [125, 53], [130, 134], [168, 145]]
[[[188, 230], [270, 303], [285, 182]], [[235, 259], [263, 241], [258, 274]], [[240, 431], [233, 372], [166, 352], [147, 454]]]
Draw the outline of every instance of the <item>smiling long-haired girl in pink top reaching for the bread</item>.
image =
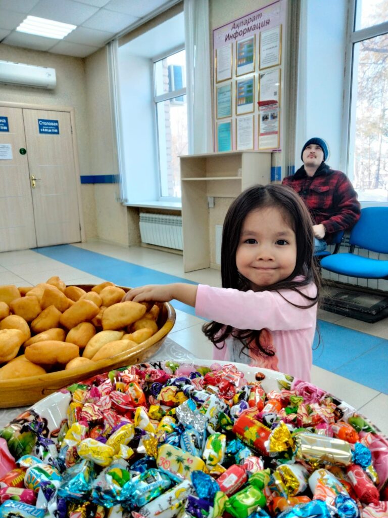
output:
[[312, 220], [285, 185], [256, 185], [225, 218], [222, 288], [185, 283], [130, 290], [125, 300], [172, 299], [212, 320], [203, 326], [214, 359], [266, 367], [310, 381], [319, 275]]

